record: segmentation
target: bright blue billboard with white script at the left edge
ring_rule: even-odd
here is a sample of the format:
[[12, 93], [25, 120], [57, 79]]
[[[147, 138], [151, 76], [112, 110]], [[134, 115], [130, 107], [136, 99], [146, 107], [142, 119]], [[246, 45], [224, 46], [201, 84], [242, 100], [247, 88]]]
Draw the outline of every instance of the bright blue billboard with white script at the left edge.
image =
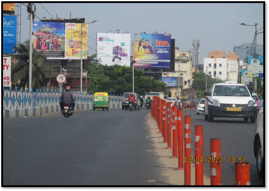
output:
[[3, 53], [13, 52], [17, 43], [17, 16], [3, 15]]

